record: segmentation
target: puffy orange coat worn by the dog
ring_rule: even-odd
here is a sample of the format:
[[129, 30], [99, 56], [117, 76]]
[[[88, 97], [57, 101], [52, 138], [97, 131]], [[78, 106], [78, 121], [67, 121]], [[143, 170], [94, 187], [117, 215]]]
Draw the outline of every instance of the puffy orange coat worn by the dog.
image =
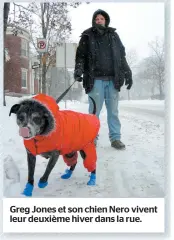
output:
[[[45, 94], [38, 94], [32, 98], [49, 110], [54, 118], [54, 128], [48, 135], [38, 135], [24, 140], [26, 149], [33, 155], [58, 150], [67, 163], [65, 154], [83, 150], [86, 154], [84, 166], [89, 172], [96, 168], [96, 138], [100, 122], [92, 114], [83, 114], [70, 110], [59, 110], [56, 101]], [[30, 100], [29, 100], [30, 101]]]

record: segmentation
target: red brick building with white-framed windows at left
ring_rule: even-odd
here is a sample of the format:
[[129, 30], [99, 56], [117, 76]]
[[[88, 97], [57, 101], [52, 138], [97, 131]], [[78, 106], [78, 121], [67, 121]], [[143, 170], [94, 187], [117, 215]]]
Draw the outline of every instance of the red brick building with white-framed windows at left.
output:
[[17, 30], [18, 33], [15, 34], [11, 26], [7, 27], [4, 47], [8, 50], [10, 59], [4, 66], [4, 86], [9, 92], [31, 94], [30, 35], [25, 29]]

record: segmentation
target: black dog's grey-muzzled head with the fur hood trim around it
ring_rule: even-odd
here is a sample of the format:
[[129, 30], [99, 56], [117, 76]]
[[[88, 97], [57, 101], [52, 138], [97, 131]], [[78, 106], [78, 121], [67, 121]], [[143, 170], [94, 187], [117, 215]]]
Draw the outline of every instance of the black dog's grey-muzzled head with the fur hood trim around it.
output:
[[49, 111], [35, 101], [24, 101], [15, 104], [10, 114], [16, 114], [17, 125], [20, 135], [24, 139], [31, 139], [37, 135], [46, 135], [52, 130], [52, 120]]

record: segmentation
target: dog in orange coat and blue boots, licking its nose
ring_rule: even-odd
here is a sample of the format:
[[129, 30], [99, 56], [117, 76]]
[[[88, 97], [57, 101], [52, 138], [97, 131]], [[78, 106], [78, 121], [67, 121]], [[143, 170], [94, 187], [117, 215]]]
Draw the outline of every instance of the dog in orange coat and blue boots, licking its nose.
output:
[[60, 155], [69, 167], [62, 179], [71, 177], [80, 152], [84, 167], [90, 172], [87, 185], [96, 184], [96, 147], [100, 122], [96, 113], [95, 101], [93, 114], [83, 114], [70, 110], [60, 110], [54, 98], [38, 94], [22, 100], [11, 107], [9, 116], [16, 114], [19, 135], [23, 137], [27, 151], [28, 181], [23, 191], [32, 196], [36, 156], [49, 159], [46, 170], [38, 182], [38, 187], [48, 185], [48, 178]]

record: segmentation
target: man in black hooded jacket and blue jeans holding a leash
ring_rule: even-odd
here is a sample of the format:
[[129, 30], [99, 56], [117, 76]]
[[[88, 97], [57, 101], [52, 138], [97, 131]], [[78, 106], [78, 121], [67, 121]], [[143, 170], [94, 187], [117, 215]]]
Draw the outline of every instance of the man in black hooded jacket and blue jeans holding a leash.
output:
[[[125, 144], [120, 140], [118, 100], [124, 81], [127, 89], [131, 88], [132, 72], [125, 58], [125, 48], [109, 23], [110, 17], [105, 11], [99, 9], [93, 14], [92, 27], [82, 33], [77, 48], [74, 78], [82, 81], [83, 74], [83, 87], [96, 102], [98, 118], [105, 101], [111, 146], [124, 149]], [[92, 108], [89, 98], [89, 113]]]

